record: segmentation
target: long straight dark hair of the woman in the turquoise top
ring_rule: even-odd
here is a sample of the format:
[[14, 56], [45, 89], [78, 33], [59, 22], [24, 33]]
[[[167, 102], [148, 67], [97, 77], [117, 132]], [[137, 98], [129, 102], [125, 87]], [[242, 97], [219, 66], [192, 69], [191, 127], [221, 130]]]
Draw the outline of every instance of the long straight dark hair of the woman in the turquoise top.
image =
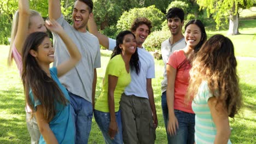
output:
[[67, 105], [68, 100], [64, 97], [57, 83], [49, 77], [30, 53], [31, 50], [38, 51], [38, 46], [45, 38], [49, 38], [44, 32], [34, 32], [28, 35], [22, 48], [22, 74], [21, 79], [24, 86], [26, 102], [35, 111], [30, 98], [30, 91], [34, 101], [39, 100], [44, 107], [44, 118], [50, 122], [56, 115], [56, 102]]

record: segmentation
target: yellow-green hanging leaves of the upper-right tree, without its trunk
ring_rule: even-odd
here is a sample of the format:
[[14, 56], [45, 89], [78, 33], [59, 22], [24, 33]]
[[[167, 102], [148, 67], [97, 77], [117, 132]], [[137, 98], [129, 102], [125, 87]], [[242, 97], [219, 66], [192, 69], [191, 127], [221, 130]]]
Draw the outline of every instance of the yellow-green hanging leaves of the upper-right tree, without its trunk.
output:
[[213, 14], [213, 18], [216, 22], [216, 29], [219, 29], [222, 24], [228, 23], [230, 15], [236, 15], [239, 8], [249, 8], [253, 5], [252, 0], [197, 0], [200, 5], [200, 9], [205, 8], [207, 15], [210, 17]]

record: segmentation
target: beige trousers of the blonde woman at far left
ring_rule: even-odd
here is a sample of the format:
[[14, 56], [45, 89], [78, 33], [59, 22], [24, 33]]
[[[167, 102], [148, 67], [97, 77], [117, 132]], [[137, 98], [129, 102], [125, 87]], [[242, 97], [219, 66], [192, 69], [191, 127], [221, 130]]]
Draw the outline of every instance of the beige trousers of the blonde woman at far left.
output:
[[28, 133], [30, 133], [30, 137], [31, 137], [31, 144], [39, 143], [41, 134], [37, 125], [36, 117], [33, 116], [31, 119], [31, 113], [26, 112], [26, 121], [27, 121], [27, 130], [28, 130]]

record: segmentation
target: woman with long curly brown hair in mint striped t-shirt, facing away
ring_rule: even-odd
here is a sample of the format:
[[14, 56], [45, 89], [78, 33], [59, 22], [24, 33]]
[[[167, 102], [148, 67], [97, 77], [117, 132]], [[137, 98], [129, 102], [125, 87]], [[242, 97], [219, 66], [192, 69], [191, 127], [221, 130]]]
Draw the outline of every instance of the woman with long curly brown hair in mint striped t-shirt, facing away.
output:
[[197, 52], [187, 93], [194, 99], [196, 143], [231, 143], [228, 117], [242, 104], [236, 65], [234, 46], [223, 35], [213, 35]]

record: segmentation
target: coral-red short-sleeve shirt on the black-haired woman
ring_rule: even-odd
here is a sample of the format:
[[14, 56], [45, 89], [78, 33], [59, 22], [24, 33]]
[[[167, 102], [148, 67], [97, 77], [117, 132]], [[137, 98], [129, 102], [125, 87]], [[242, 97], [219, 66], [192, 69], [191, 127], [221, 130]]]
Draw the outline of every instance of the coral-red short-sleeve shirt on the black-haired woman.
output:
[[167, 64], [177, 70], [174, 83], [174, 109], [194, 113], [191, 103], [184, 103], [189, 85], [189, 70], [191, 69], [184, 51], [174, 51], [169, 57]]

